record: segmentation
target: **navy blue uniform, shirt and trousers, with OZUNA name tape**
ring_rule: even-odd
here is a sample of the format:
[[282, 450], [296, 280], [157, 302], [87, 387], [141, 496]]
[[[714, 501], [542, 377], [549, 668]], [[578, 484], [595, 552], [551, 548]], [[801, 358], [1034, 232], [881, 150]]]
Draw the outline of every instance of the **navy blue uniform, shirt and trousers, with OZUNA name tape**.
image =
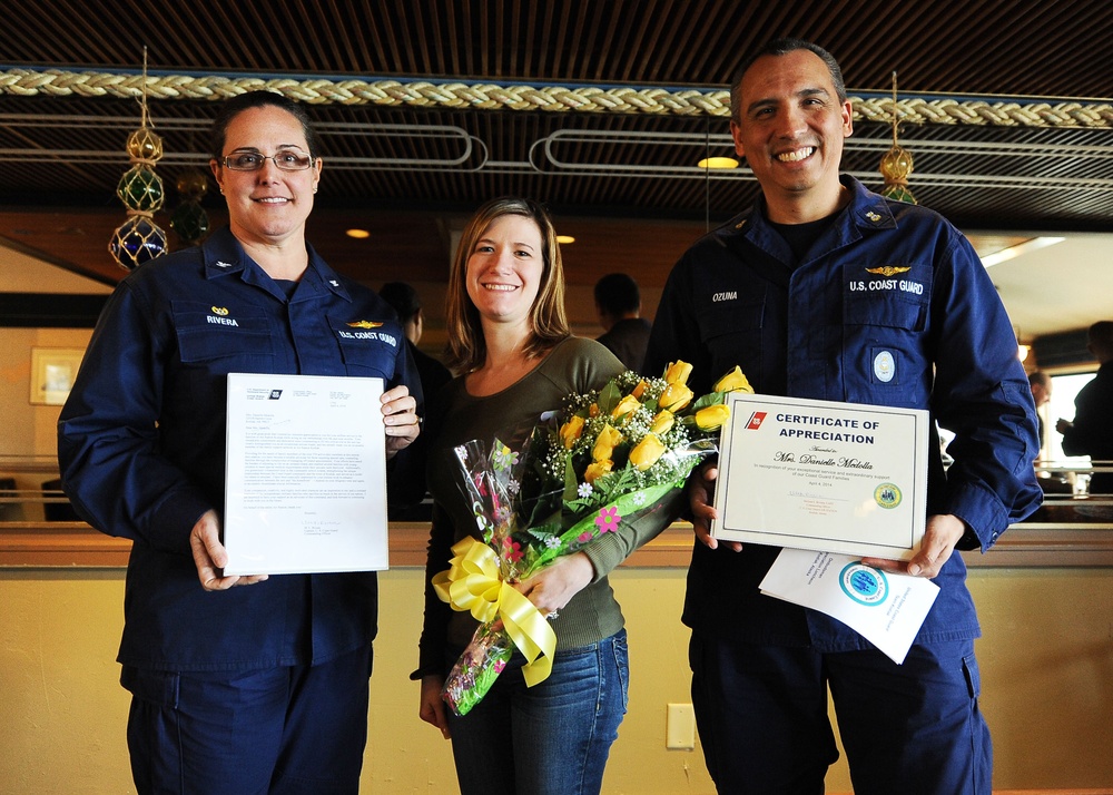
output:
[[[764, 199], [697, 242], [669, 277], [646, 372], [693, 365], [696, 394], [736, 364], [762, 394], [930, 411], [928, 514], [987, 550], [1041, 500], [1035, 410], [1012, 325], [973, 247], [944, 218], [843, 177], [851, 198], [797, 257]], [[953, 554], [908, 659], [897, 666], [823, 614], [762, 596], [779, 548], [696, 543], [683, 621], [708, 767], [723, 793], [823, 793], [837, 749], [855, 792], [988, 793], [977, 710], [981, 630]], [[972, 752], [973, 749], [973, 752]], [[983, 789], [984, 788], [984, 789]]]

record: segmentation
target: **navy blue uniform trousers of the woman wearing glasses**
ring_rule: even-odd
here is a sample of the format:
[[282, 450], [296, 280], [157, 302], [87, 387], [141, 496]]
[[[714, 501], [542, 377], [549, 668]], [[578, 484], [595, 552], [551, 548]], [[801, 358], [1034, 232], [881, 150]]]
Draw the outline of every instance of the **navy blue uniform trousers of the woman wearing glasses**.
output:
[[125, 666], [140, 795], [356, 795], [372, 649], [316, 666], [158, 671]]

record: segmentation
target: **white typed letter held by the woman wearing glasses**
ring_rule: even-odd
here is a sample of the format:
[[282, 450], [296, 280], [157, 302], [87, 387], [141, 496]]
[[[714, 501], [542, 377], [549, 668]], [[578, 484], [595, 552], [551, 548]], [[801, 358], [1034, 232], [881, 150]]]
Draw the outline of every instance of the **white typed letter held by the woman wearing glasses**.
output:
[[382, 379], [228, 375], [227, 575], [387, 568]]

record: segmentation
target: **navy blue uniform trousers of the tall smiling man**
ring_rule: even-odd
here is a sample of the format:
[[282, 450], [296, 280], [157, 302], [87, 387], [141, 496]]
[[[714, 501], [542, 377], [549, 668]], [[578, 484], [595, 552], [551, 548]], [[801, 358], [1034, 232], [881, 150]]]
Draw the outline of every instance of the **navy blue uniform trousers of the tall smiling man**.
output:
[[708, 771], [730, 795], [823, 795], [838, 749], [856, 795], [989, 795], [993, 748], [972, 640], [820, 654], [693, 631], [692, 703]]

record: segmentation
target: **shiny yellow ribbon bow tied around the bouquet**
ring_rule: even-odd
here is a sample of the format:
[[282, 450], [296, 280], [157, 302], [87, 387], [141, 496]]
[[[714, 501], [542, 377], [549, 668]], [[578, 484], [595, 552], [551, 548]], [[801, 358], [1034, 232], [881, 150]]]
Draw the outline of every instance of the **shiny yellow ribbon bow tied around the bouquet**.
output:
[[433, 578], [433, 590], [457, 612], [471, 612], [486, 624], [502, 619], [510, 639], [525, 657], [525, 686], [544, 681], [552, 673], [556, 632], [521, 591], [503, 581], [494, 550], [472, 538], [452, 547], [449, 569]]

